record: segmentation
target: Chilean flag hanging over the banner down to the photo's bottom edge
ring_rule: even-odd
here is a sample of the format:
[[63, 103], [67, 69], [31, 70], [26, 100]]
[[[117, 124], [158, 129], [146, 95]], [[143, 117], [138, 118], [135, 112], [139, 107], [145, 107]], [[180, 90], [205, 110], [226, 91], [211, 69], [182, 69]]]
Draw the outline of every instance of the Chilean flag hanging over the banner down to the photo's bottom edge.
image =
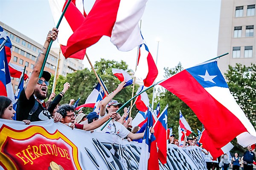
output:
[[153, 117], [151, 111], [147, 114], [147, 127], [143, 136], [141, 146], [139, 170], [159, 170], [157, 144], [154, 133], [150, 133], [153, 127]]

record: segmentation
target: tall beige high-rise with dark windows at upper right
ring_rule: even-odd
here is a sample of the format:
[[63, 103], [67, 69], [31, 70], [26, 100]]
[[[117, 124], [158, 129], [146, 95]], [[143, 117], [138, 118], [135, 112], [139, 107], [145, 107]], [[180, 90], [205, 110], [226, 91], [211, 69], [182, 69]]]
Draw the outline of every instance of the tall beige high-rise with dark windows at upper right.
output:
[[[228, 65], [232, 65], [234, 67], [236, 63], [241, 63], [242, 65], [250, 66], [250, 63], [256, 63], [255, 4], [256, 0], [221, 0], [218, 56], [227, 52], [229, 53], [229, 55], [221, 57], [220, 61], [218, 62], [222, 73], [227, 72]], [[253, 5], [254, 9], [252, 8]], [[243, 9], [241, 10], [241, 8]], [[250, 12], [248, 15], [252, 16], [247, 15], [248, 9], [248, 12]], [[254, 11], [254, 14], [252, 14], [252, 11]], [[238, 15], [239, 12], [240, 15]], [[246, 28], [248, 28], [248, 26], [254, 27], [253, 36], [246, 35]], [[235, 31], [235, 27], [236, 29], [238, 27], [241, 28], [241, 31], [239, 31], [241, 32], [241, 37], [237, 37], [237, 34], [234, 34], [238, 33], [237, 30]], [[248, 51], [250, 46], [252, 46], [252, 55], [249, 55], [250, 57], [248, 57], [245, 54], [250, 51]], [[239, 57], [235, 55], [237, 51], [233, 51], [234, 47], [235, 49], [237, 49], [236, 47], [240, 47]], [[238, 58], [234, 58], [235, 56]]]

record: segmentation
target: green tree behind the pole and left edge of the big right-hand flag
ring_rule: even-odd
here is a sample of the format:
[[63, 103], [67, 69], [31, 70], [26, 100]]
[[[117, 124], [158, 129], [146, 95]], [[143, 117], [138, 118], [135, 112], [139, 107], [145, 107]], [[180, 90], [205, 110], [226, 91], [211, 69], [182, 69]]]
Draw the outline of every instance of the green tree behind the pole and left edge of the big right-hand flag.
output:
[[[170, 77], [180, 71], [183, 70], [181, 63], [179, 62], [175, 68], [164, 68], [165, 75], [164, 77]], [[189, 123], [189, 126], [192, 130], [197, 132], [198, 129], [202, 129], [202, 124], [198, 120], [195, 113], [180, 100], [177, 96], [166, 91], [164, 88], [158, 89], [158, 100], [160, 101], [160, 106], [163, 109], [167, 104], [168, 107], [168, 127], [172, 127], [173, 133], [178, 134], [177, 129], [179, 126], [179, 110], [182, 112], [182, 115], [185, 117], [186, 121]], [[195, 136], [195, 134], [191, 134], [191, 136]]]

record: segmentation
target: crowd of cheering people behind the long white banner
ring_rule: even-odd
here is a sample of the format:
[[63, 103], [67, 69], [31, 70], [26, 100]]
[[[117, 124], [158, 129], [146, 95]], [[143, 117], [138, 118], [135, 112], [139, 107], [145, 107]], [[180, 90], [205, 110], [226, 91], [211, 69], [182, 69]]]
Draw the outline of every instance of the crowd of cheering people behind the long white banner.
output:
[[[116, 113], [116, 111], [122, 106], [122, 103], [119, 103], [113, 98], [122, 90], [125, 86], [125, 82], [121, 82], [116, 90], [100, 101], [96, 109], [89, 114], [85, 114], [83, 111], [79, 111], [79, 113], [76, 114], [73, 106], [75, 102], [74, 99], [70, 99], [70, 103], [68, 104], [60, 105], [61, 99], [70, 88], [70, 84], [68, 82], [64, 84], [63, 90], [58, 95], [52, 93], [49, 96], [48, 101], [44, 101], [47, 99], [47, 90], [51, 74], [44, 71], [41, 78], [39, 78], [39, 74], [49, 43], [51, 40], [56, 40], [57, 36], [58, 30], [56, 28], [53, 28], [47, 34], [47, 39], [37, 57], [33, 72], [17, 100], [16, 120], [23, 121], [25, 124], [29, 125], [30, 122], [53, 119], [54, 122], [61, 122], [72, 129], [76, 128], [86, 130], [91, 133], [96, 131], [115, 134], [123, 139], [128, 139], [128, 141], [141, 143], [146, 123], [142, 127], [136, 126], [132, 128], [132, 117], [128, 117], [127, 108], [124, 108], [124, 114], [122, 116], [120, 116], [119, 113]], [[0, 96], [0, 118], [13, 120], [14, 114], [15, 110], [12, 106], [12, 100], [8, 97]], [[128, 119], [126, 119], [127, 117]], [[105, 122], [110, 118], [112, 118], [112, 120], [108, 122], [108, 125], [103, 130], [100, 130], [104, 126]], [[153, 128], [151, 128], [151, 133], [154, 133]], [[175, 144], [178, 147], [198, 145], [197, 138], [188, 138], [186, 135], [183, 140], [183, 144], [179, 144], [179, 141], [178, 139], [175, 139], [174, 134], [170, 135], [168, 143]], [[202, 148], [201, 144], [199, 144], [199, 146]], [[218, 170], [219, 167], [222, 167], [223, 170], [227, 170], [230, 167], [231, 162], [233, 170], [239, 170], [240, 167], [244, 170], [253, 170], [255, 153], [252, 152], [252, 148], [250, 146], [247, 149], [248, 150], [241, 158], [238, 157], [238, 153], [235, 153], [232, 160], [230, 160], [230, 156], [228, 154], [224, 154], [219, 158], [217, 163], [214, 161], [207, 162], [208, 170], [214, 170], [215, 168]], [[209, 154], [207, 150], [203, 148], [201, 150], [202, 154], [205, 156]]]

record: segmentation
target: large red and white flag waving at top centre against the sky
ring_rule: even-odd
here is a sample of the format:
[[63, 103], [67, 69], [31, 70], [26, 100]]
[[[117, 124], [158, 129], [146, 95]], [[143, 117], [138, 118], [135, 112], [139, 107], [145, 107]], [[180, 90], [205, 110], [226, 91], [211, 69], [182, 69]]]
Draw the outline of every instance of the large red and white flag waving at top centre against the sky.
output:
[[84, 22], [65, 46], [64, 56], [81, 51], [101, 39], [111, 37], [120, 51], [129, 51], [143, 43], [139, 21], [147, 0], [96, 0]]

